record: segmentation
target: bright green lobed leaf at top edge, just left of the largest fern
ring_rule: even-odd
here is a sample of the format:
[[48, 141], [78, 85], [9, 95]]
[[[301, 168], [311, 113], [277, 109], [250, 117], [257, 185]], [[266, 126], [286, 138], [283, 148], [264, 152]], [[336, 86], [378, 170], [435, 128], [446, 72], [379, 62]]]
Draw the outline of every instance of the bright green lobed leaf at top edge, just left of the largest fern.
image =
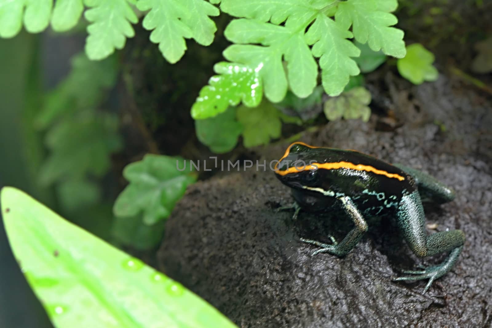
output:
[[219, 10], [205, 0], [138, 0], [137, 8], [150, 10], [143, 27], [152, 30], [150, 39], [159, 44], [164, 58], [175, 63], [186, 51], [186, 38], [208, 46], [214, 40], [217, 28], [209, 16], [218, 16]]

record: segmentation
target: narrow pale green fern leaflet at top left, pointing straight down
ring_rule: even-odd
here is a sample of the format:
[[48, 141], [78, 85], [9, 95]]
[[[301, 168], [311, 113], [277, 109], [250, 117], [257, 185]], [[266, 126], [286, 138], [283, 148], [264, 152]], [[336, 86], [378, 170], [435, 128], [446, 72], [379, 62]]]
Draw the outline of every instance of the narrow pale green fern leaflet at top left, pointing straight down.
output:
[[86, 19], [92, 23], [87, 28], [89, 59], [104, 59], [115, 49], [122, 49], [127, 37], [133, 37], [135, 31], [130, 23], [137, 23], [138, 18], [130, 3], [135, 4], [135, 0], [85, 0], [92, 7], [85, 12]]

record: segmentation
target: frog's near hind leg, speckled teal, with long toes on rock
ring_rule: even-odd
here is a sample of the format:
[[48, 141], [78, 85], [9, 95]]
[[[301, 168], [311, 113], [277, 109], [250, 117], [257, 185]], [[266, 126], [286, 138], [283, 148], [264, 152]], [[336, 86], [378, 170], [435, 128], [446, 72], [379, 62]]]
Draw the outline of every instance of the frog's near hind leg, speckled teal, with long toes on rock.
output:
[[397, 213], [398, 225], [405, 240], [418, 257], [432, 256], [435, 254], [450, 252], [449, 256], [441, 264], [425, 268], [422, 271], [407, 271], [414, 274], [395, 278], [394, 280], [420, 280], [429, 279], [424, 293], [432, 282], [448, 273], [458, 260], [464, 243], [464, 234], [461, 230], [442, 231], [430, 236], [426, 235], [424, 228], [425, 216], [422, 202], [417, 191], [403, 196]]

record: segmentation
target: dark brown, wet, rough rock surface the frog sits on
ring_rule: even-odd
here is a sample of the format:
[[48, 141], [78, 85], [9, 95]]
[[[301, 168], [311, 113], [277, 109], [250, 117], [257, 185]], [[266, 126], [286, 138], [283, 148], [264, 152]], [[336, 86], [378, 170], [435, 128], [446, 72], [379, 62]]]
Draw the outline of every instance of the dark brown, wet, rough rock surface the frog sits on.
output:
[[[300, 139], [403, 163], [456, 189], [451, 203], [425, 204], [427, 223], [437, 224], [429, 233], [466, 235], [455, 268], [425, 295], [426, 281], [391, 278], [445, 254], [419, 260], [394, 222], [374, 220], [346, 257], [313, 257], [314, 246], [299, 238], [327, 240], [330, 233], [341, 240], [350, 222], [306, 212], [293, 222], [292, 212], [277, 213], [292, 202], [290, 191], [263, 168], [191, 186], [167, 222], [160, 268], [239, 327], [491, 327], [492, 101], [458, 84], [445, 76], [418, 87], [390, 82], [390, 107], [402, 127], [375, 131], [373, 116], [369, 123], [330, 122]], [[287, 146], [258, 151], [261, 162]]]

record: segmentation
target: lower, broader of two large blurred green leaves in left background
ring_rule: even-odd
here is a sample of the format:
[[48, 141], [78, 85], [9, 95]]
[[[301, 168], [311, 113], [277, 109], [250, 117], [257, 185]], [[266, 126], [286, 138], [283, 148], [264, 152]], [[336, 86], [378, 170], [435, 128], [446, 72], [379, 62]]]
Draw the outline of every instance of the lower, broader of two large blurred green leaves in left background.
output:
[[118, 118], [90, 112], [66, 118], [48, 131], [46, 146], [51, 153], [39, 173], [42, 184], [86, 173], [101, 177], [110, 167], [110, 154], [122, 147]]

